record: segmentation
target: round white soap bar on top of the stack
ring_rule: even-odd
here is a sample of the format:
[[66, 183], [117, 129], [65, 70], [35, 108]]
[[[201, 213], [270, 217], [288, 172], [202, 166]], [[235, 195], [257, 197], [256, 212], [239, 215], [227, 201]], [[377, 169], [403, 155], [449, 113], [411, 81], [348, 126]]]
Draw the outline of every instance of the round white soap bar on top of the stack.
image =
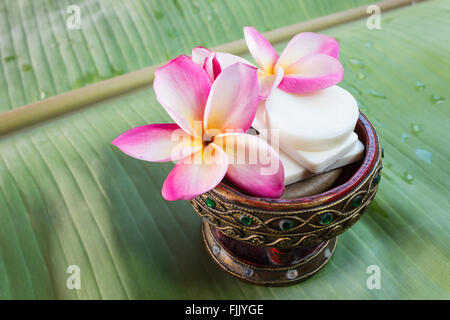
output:
[[303, 151], [341, 145], [355, 129], [359, 116], [355, 98], [338, 86], [307, 94], [275, 88], [259, 109], [263, 107], [258, 110], [254, 127], [278, 130], [280, 141]]

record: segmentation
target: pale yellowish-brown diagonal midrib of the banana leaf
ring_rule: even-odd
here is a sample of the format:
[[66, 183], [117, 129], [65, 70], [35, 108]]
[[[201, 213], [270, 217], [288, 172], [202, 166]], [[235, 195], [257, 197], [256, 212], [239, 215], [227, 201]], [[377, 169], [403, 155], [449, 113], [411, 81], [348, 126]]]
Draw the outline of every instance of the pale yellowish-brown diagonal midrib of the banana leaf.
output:
[[[424, 1], [424, 0], [419, 0]], [[381, 11], [410, 5], [412, 0], [384, 0], [374, 3]], [[289, 40], [299, 32], [318, 31], [367, 16], [367, 7], [353, 8], [301, 23], [266, 32], [264, 36], [272, 43]], [[247, 52], [244, 39], [232, 41], [214, 48], [215, 51], [240, 55]], [[34, 102], [0, 114], [0, 136], [9, 134], [65, 113], [81, 109], [93, 103], [150, 85], [155, 70], [163, 64], [133, 71], [125, 75], [97, 82], [86, 87]]]

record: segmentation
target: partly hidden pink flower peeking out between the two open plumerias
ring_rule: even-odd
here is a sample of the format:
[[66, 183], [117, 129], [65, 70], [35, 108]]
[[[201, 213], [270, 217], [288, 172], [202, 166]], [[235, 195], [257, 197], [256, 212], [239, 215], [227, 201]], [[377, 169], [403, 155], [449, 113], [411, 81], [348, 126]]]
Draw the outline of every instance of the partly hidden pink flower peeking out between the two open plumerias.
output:
[[249, 61], [239, 56], [235, 56], [234, 54], [214, 52], [204, 47], [195, 47], [192, 49], [192, 61], [205, 69], [211, 78], [211, 81], [214, 81], [222, 70], [232, 64], [245, 63], [253, 66]]

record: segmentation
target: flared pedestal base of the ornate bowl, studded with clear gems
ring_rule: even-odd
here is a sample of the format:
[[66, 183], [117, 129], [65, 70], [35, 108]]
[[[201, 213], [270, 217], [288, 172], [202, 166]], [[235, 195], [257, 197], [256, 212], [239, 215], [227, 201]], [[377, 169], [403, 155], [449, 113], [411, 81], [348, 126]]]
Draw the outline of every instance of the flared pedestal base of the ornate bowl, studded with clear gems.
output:
[[213, 260], [240, 280], [263, 286], [287, 286], [304, 281], [330, 260], [337, 237], [311, 246], [281, 250], [244, 243], [223, 234], [206, 221], [203, 240]]

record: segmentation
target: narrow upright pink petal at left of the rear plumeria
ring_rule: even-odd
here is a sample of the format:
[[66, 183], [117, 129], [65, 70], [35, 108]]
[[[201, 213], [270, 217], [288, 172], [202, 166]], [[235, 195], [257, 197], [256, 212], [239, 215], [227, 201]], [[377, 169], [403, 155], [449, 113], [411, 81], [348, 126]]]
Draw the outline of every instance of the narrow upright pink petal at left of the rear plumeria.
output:
[[273, 73], [278, 54], [269, 41], [253, 27], [244, 27], [245, 42], [256, 63], [266, 73]]

